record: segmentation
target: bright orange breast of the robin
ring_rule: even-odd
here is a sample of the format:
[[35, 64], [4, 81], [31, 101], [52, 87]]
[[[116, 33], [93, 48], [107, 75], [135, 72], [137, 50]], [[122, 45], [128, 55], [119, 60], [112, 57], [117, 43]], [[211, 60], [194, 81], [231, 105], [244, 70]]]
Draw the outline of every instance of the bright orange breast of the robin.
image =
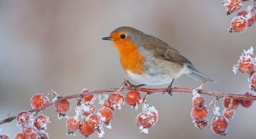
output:
[[115, 45], [119, 52], [119, 59], [124, 72], [127, 73], [129, 70], [133, 74], [144, 74], [144, 61], [145, 57], [139, 53], [138, 46], [135, 46], [130, 40], [113, 40], [112, 43]]

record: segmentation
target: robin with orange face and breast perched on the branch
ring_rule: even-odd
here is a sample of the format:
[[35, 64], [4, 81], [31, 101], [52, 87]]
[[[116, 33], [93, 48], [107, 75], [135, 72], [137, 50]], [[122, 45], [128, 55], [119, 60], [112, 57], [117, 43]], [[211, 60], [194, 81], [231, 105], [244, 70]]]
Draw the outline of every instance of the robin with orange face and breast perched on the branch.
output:
[[[119, 27], [112, 31], [109, 40], [119, 52], [119, 59], [124, 72], [132, 80], [143, 85], [170, 83], [182, 74], [194, 79], [201, 85], [212, 78], [200, 73], [195, 66], [178, 50], [152, 35], [132, 27]], [[171, 94], [171, 85], [167, 92]], [[141, 86], [141, 85], [140, 85]]]

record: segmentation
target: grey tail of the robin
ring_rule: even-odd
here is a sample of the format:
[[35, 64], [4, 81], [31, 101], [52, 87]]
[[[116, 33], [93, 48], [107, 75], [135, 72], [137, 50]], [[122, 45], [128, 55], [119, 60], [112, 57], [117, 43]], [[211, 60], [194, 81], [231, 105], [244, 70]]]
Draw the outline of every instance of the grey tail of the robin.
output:
[[208, 77], [208, 76], [204, 75], [203, 73], [200, 73], [198, 70], [194, 69], [194, 67], [188, 66], [188, 69], [190, 69], [191, 73], [188, 73], [187, 75], [201, 85], [207, 84], [208, 81], [216, 82], [211, 77]]

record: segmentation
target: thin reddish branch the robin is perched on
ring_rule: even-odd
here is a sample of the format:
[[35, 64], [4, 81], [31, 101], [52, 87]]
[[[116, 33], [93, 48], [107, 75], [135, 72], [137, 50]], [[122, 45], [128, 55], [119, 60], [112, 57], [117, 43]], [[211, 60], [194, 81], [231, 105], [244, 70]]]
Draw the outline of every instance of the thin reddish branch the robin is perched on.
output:
[[[45, 110], [46, 108], [48, 108], [49, 106], [55, 104], [56, 102], [59, 102], [61, 100], [68, 100], [71, 98], [78, 98], [78, 97], [84, 97], [87, 96], [89, 94], [97, 94], [97, 93], [106, 93], [106, 92], [117, 92], [119, 90], [119, 88], [112, 88], [112, 89], [99, 89], [99, 90], [91, 90], [88, 91], [86, 93], [82, 93], [82, 94], [74, 94], [71, 96], [65, 96], [65, 97], [60, 97], [58, 100], [50, 102], [49, 104], [45, 104], [43, 106], [41, 106], [40, 108], [37, 109], [31, 109], [28, 112], [33, 113], [33, 112], [40, 112], [41, 110]], [[163, 89], [149, 89], [149, 88], [136, 88], [135, 86], [130, 86], [130, 88], [121, 88], [120, 91], [130, 91], [130, 90], [137, 90], [137, 91], [141, 91], [141, 92], [147, 92], [149, 94], [151, 93], [163, 93], [166, 92], [166, 88]], [[186, 89], [186, 88], [172, 88], [172, 92], [184, 92], [184, 93], [192, 93], [193, 89]], [[256, 96], [245, 96], [243, 94], [227, 94], [227, 93], [218, 93], [218, 92], [212, 92], [212, 91], [208, 91], [208, 90], [198, 90], [199, 94], [206, 94], [206, 95], [210, 95], [210, 96], [215, 96], [215, 97], [230, 97], [230, 98], [239, 98], [239, 99], [245, 99], [245, 100], [256, 100]], [[4, 124], [6, 122], [0, 122], [1, 124]]]

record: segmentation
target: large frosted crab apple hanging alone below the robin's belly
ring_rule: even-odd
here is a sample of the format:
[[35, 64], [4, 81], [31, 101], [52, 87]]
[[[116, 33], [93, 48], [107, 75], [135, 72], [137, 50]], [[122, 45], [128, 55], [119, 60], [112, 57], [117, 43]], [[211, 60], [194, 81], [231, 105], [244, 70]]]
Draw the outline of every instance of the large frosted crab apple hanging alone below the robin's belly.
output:
[[136, 124], [143, 128], [152, 128], [152, 126], [155, 124], [155, 118], [148, 113], [139, 113], [136, 117]]

